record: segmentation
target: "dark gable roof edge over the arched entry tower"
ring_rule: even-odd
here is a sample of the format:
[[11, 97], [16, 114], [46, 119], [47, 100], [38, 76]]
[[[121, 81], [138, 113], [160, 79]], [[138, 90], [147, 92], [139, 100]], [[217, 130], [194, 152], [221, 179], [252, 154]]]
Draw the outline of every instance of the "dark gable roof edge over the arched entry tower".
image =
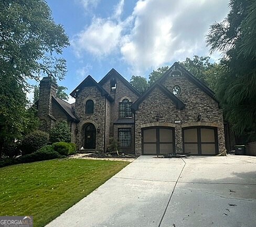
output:
[[70, 93], [70, 95], [73, 98], [76, 98], [77, 94], [80, 92], [80, 90], [82, 90], [84, 87], [97, 87], [102, 96], [105, 96], [106, 98], [108, 98], [110, 101], [113, 101], [113, 98], [109, 95], [108, 92], [106, 92], [106, 90], [99, 85], [90, 75], [88, 75], [74, 90], [73, 92]]

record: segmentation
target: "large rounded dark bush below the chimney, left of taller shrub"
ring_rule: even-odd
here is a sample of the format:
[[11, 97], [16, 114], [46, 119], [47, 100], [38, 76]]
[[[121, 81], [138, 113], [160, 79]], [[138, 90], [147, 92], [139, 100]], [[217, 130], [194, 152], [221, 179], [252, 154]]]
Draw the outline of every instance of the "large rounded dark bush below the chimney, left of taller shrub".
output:
[[24, 137], [21, 150], [23, 154], [31, 154], [36, 152], [40, 147], [46, 145], [49, 140], [49, 134], [36, 130]]

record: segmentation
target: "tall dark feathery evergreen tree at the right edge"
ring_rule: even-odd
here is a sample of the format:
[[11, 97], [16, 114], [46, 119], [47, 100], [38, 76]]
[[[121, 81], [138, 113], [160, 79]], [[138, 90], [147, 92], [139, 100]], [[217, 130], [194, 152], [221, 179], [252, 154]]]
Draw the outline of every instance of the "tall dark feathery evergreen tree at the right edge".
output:
[[231, 0], [230, 12], [211, 25], [207, 44], [223, 53], [217, 98], [236, 134], [256, 128], [255, 1]]

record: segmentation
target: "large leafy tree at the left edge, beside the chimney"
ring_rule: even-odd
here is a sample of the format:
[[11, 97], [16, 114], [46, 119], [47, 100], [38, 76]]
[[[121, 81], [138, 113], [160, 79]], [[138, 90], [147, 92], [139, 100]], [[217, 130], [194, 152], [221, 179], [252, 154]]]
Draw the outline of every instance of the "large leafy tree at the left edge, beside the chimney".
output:
[[66, 61], [58, 55], [69, 45], [44, 0], [0, 1], [0, 149], [27, 130], [28, 78], [62, 79]]

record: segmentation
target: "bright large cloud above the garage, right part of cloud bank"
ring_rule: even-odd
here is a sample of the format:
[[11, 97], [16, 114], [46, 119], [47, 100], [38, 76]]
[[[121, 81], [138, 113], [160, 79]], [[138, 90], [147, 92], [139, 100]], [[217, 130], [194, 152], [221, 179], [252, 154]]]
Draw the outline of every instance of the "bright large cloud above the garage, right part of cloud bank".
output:
[[138, 1], [134, 27], [121, 47], [124, 61], [144, 71], [194, 54], [208, 55], [205, 35], [215, 20], [227, 15], [227, 5], [227, 0]]

